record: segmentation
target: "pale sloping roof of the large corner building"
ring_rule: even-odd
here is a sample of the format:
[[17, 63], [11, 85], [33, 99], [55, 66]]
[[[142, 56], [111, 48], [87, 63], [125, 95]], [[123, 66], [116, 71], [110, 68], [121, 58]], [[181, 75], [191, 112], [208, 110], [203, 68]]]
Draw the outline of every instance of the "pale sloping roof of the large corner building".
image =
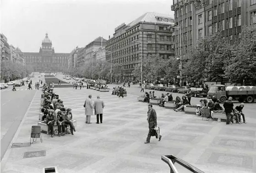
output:
[[129, 23], [127, 26], [132, 27], [136, 24], [138, 24], [141, 21], [145, 21], [145, 22], [150, 22], [150, 23], [161, 23], [161, 24], [172, 24], [172, 22], [170, 21], [159, 21], [157, 20], [157, 17], [162, 17], [162, 18], [171, 18], [174, 20], [174, 17], [170, 14], [161, 14], [161, 13], [156, 13], [156, 12], [148, 12], [145, 13], [143, 15], [141, 15], [139, 18], [133, 20], [131, 23]]

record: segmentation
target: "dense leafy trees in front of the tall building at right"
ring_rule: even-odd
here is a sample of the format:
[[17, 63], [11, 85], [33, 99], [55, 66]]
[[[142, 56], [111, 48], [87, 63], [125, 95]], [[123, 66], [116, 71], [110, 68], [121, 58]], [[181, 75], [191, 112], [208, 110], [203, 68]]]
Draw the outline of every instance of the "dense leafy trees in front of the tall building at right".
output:
[[[233, 38], [235, 39], [235, 38]], [[182, 75], [188, 82], [226, 81], [256, 83], [256, 29], [243, 27], [241, 40], [233, 45], [219, 32], [198, 41], [183, 63]]]

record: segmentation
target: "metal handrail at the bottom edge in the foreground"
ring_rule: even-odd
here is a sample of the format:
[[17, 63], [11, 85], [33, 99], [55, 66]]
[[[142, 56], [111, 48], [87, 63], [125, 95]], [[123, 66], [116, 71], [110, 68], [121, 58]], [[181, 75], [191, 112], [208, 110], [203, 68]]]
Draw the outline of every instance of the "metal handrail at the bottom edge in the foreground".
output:
[[174, 155], [162, 155], [161, 159], [170, 166], [171, 173], [178, 173], [178, 170], [176, 169], [176, 167], [174, 165], [176, 162], [191, 172], [205, 173], [204, 171], [201, 171], [198, 168], [195, 168], [193, 165], [190, 165], [186, 161], [179, 159], [179, 158], [175, 157]]

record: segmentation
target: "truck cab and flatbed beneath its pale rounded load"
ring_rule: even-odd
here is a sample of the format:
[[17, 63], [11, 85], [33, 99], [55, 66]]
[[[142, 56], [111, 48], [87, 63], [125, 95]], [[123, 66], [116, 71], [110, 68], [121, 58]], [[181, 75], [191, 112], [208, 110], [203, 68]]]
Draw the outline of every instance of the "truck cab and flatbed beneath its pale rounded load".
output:
[[219, 99], [220, 103], [224, 103], [228, 97], [239, 102], [253, 103], [256, 99], [256, 91], [226, 91], [225, 85], [211, 85], [207, 94], [207, 98], [213, 99], [214, 102]]

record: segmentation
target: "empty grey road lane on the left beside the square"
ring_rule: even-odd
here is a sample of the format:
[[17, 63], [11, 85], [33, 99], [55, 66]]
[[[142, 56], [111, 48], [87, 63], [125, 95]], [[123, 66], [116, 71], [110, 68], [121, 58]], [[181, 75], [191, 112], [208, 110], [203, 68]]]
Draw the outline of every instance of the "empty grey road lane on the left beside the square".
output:
[[1, 92], [1, 160], [10, 142], [12, 142], [36, 91]]

